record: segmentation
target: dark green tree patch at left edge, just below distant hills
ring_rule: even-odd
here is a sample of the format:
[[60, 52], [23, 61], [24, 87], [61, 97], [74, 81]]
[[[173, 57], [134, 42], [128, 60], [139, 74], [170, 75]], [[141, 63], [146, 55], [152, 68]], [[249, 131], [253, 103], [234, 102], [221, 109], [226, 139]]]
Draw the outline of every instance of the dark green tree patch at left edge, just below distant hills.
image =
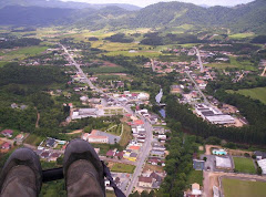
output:
[[22, 38], [22, 39], [12, 39], [1, 42], [0, 49], [12, 49], [16, 46], [31, 46], [39, 45], [41, 42], [40, 39], [33, 38]]

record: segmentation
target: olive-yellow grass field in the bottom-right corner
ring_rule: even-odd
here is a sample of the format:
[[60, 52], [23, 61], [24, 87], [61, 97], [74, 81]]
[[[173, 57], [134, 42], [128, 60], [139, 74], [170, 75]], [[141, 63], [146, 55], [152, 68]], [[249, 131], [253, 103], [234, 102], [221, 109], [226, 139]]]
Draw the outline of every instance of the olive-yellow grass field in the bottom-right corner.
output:
[[266, 183], [223, 178], [225, 197], [264, 197]]

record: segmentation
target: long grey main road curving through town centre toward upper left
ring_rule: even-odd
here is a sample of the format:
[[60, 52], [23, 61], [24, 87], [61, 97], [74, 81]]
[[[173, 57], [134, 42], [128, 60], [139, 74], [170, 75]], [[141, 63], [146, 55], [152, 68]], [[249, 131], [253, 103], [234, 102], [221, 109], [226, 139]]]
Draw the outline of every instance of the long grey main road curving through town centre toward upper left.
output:
[[[103, 93], [103, 91], [100, 87], [96, 87], [92, 84], [92, 82], [88, 79], [86, 74], [82, 71], [80, 64], [76, 63], [76, 61], [73, 59], [73, 56], [71, 56], [71, 54], [69, 53], [68, 49], [61, 44], [61, 46], [63, 48], [64, 52], [68, 54], [69, 60], [71, 61], [71, 63], [76, 68], [76, 70], [79, 71], [79, 73], [81, 74], [81, 76], [84, 79], [84, 81], [88, 83], [88, 85], [90, 86], [91, 90], [94, 90], [98, 93], [101, 93], [110, 98], [115, 100], [117, 103], [117, 98], [112, 97], [111, 95], [108, 95], [105, 93]], [[135, 113], [131, 110], [131, 107], [126, 104], [121, 104], [121, 106], [123, 106], [125, 108], [125, 111], [129, 114], [133, 114], [135, 115]], [[137, 178], [142, 173], [142, 169], [145, 165], [145, 160], [150, 154], [150, 151], [152, 148], [152, 141], [153, 141], [153, 127], [151, 125], [151, 123], [149, 121], [146, 121], [145, 117], [143, 117], [142, 115], [139, 115], [139, 117], [144, 122], [144, 128], [146, 131], [146, 139], [144, 142], [144, 144], [142, 145], [142, 152], [140, 153], [137, 160], [136, 160], [136, 168], [132, 175], [132, 179], [126, 188], [125, 195], [129, 196], [133, 188], [136, 186], [137, 184]]]

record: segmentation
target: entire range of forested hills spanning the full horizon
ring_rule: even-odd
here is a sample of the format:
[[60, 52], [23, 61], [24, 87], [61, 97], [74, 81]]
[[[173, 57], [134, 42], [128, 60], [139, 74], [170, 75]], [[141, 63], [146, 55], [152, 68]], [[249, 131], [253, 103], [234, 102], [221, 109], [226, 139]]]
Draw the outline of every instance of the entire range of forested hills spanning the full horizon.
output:
[[[57, 0], [53, 0], [53, 2], [57, 2]], [[33, 8], [16, 6], [0, 9], [0, 24], [65, 24], [91, 29], [101, 29], [104, 27], [113, 27], [116, 29], [160, 28], [193, 24], [197, 28], [219, 27], [229, 28], [234, 32], [253, 31], [264, 34], [266, 32], [265, 13], [265, 0], [255, 0], [254, 2], [234, 8], [203, 8], [177, 1], [160, 2], [139, 11], [129, 11], [116, 6], [104, 7], [102, 9], [75, 9], [75, 7], [73, 7], [73, 9]]]

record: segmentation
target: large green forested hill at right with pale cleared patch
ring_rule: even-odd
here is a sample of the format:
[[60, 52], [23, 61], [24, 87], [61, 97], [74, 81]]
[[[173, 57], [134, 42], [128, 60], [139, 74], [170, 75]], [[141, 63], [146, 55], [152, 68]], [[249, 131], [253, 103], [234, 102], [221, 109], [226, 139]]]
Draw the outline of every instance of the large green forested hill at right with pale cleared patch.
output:
[[136, 12], [130, 24], [133, 27], [219, 25], [232, 27], [238, 31], [264, 32], [266, 30], [265, 13], [265, 0], [256, 0], [234, 8], [203, 8], [192, 3], [160, 2]]

